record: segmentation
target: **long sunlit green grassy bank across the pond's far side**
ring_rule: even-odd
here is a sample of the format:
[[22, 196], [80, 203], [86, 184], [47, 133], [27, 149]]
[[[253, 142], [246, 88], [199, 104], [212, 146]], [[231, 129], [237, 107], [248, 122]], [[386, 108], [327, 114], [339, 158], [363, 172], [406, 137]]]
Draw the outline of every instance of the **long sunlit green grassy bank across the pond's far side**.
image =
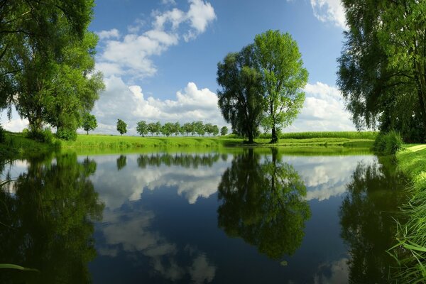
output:
[[[307, 152], [315, 148], [347, 149], [359, 148], [368, 151], [373, 146], [376, 133], [373, 132], [303, 132], [284, 133], [278, 143], [270, 144], [270, 138], [263, 136], [249, 144], [233, 135], [218, 137], [141, 137], [112, 135], [78, 135], [76, 141], [62, 141], [53, 138], [52, 143], [39, 143], [24, 136], [23, 133], [6, 133], [6, 141], [0, 145], [0, 155], [10, 157], [27, 155], [51, 148], [73, 149], [77, 151], [141, 151], [152, 148], [222, 148], [222, 147], [283, 147], [304, 148]], [[297, 150], [300, 151], [300, 150]], [[343, 150], [342, 150], [343, 151]]]

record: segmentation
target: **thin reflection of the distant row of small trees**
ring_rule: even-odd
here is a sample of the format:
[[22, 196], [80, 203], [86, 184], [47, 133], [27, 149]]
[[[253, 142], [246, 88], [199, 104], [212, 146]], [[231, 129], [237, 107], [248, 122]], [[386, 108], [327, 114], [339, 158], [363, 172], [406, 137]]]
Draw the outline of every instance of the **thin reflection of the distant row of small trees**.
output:
[[198, 168], [199, 166], [211, 167], [213, 163], [217, 162], [220, 158], [218, 153], [205, 153], [202, 155], [193, 155], [187, 153], [151, 153], [150, 155], [139, 155], [138, 166], [139, 168], [146, 168], [148, 165], [180, 165], [185, 168]]

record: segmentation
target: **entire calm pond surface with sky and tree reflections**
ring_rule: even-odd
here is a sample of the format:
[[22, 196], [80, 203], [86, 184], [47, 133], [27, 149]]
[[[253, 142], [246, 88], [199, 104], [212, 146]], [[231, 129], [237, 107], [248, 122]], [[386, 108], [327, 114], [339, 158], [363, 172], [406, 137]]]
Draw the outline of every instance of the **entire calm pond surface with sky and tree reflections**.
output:
[[373, 155], [52, 154], [4, 165], [0, 283], [391, 283], [405, 182]]

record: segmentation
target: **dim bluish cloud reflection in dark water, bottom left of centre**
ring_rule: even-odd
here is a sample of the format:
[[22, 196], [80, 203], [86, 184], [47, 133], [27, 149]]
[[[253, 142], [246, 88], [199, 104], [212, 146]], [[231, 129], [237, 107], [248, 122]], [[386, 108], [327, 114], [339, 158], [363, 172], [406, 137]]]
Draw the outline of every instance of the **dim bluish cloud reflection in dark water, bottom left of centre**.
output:
[[[153, 283], [211, 282], [216, 268], [205, 253], [190, 244], [182, 246], [168, 241], [152, 228], [154, 223], [155, 214], [138, 202], [129, 202], [126, 209], [107, 208], [101, 226], [104, 241], [97, 248], [99, 255], [117, 258], [121, 265], [133, 260], [129, 265], [136, 266], [136, 271], [131, 279], [149, 278]], [[126, 259], [121, 260], [124, 253]], [[148, 259], [148, 266], [140, 266], [139, 263], [146, 263], [144, 258]]]

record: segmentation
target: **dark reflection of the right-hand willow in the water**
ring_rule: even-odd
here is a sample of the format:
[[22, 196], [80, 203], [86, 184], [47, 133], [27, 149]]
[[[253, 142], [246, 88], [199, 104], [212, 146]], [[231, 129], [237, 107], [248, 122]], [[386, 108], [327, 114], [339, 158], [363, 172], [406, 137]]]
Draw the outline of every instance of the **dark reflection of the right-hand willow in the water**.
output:
[[347, 185], [340, 208], [342, 238], [349, 244], [349, 283], [389, 283], [393, 258], [386, 253], [395, 243], [395, 212], [403, 203], [403, 177], [388, 160], [359, 163]]

